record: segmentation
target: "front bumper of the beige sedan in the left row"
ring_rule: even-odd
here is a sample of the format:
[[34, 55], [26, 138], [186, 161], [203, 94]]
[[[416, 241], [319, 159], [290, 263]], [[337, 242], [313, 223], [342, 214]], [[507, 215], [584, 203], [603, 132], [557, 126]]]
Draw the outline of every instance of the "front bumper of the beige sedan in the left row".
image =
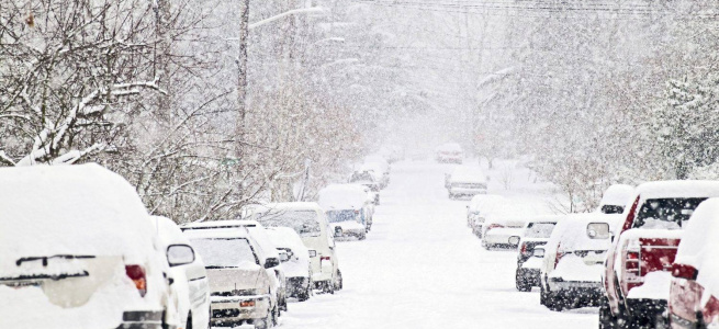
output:
[[[232, 297], [210, 297], [210, 311], [212, 324], [220, 325], [225, 322], [238, 322], [250, 319], [262, 319], [269, 315], [270, 296], [232, 296]], [[241, 302], [255, 302], [255, 306], [239, 307]]]

